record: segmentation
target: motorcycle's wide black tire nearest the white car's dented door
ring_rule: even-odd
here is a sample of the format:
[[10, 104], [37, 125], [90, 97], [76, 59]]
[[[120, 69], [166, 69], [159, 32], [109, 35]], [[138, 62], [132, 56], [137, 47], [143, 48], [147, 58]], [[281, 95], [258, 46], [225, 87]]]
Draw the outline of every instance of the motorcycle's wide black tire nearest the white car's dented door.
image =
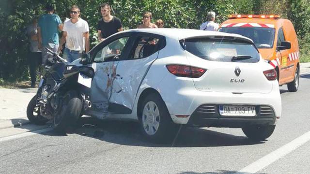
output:
[[53, 128], [59, 133], [72, 131], [82, 111], [82, 100], [74, 90], [66, 92], [63, 96], [62, 106], [54, 115]]

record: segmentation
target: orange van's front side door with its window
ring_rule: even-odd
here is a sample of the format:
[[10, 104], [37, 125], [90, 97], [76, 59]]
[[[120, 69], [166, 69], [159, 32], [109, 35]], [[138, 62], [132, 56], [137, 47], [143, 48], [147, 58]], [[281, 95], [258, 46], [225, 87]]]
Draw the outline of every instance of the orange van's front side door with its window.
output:
[[[281, 45], [281, 42], [286, 41], [283, 28], [279, 28], [277, 35], [277, 47]], [[290, 80], [292, 77], [292, 72], [294, 72], [294, 62], [292, 61], [290, 54], [290, 49], [286, 50], [277, 50], [277, 56], [280, 58], [279, 65], [279, 83], [285, 83]]]

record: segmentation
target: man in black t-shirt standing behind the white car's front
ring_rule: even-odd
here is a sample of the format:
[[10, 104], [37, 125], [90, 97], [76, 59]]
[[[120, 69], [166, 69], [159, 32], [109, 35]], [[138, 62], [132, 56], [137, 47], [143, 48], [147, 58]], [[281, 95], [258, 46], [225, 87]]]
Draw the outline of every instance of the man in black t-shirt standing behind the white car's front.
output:
[[98, 21], [98, 40], [99, 42], [105, 40], [110, 35], [123, 31], [122, 22], [119, 18], [110, 14], [111, 7], [109, 3], [101, 5], [102, 18]]

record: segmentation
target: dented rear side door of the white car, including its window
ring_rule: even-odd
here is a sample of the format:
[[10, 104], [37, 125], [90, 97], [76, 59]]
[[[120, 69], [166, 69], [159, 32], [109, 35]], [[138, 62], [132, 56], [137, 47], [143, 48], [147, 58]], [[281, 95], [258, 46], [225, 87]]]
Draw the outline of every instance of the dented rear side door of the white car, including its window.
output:
[[127, 58], [116, 69], [116, 78], [109, 100], [109, 111], [131, 114], [138, 89], [152, 63], [164, 46], [164, 37], [150, 33], [136, 33], [136, 39]]

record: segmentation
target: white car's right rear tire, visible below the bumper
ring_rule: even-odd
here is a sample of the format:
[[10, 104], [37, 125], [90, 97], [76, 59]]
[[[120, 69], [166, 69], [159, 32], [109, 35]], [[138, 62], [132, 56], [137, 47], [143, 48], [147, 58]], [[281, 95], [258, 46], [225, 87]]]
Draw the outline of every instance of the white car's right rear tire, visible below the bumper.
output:
[[271, 136], [275, 128], [276, 125], [268, 125], [268, 126], [251, 125], [242, 128], [242, 131], [251, 140], [263, 141]]

